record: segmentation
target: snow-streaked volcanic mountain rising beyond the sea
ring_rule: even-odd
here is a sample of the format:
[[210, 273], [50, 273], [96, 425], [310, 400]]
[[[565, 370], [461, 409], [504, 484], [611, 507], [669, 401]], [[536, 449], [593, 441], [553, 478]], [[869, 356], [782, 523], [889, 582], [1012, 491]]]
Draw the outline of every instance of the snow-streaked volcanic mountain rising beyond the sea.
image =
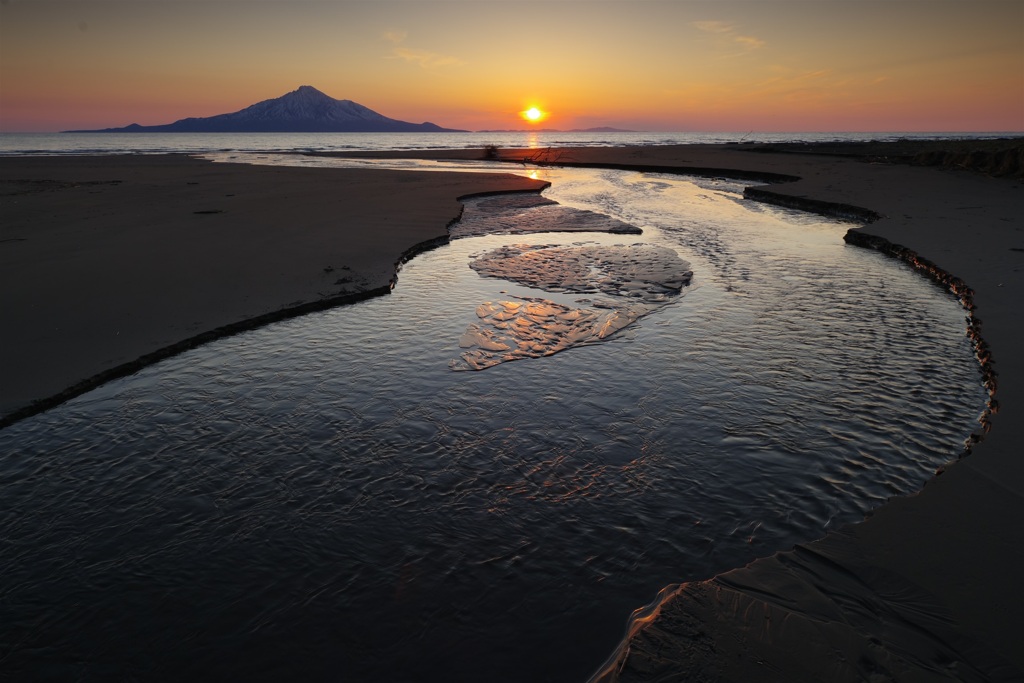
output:
[[207, 118], [181, 119], [162, 126], [72, 130], [70, 133], [438, 133], [463, 132], [432, 123], [389, 119], [349, 99], [335, 99], [316, 88], [298, 90], [251, 106]]

